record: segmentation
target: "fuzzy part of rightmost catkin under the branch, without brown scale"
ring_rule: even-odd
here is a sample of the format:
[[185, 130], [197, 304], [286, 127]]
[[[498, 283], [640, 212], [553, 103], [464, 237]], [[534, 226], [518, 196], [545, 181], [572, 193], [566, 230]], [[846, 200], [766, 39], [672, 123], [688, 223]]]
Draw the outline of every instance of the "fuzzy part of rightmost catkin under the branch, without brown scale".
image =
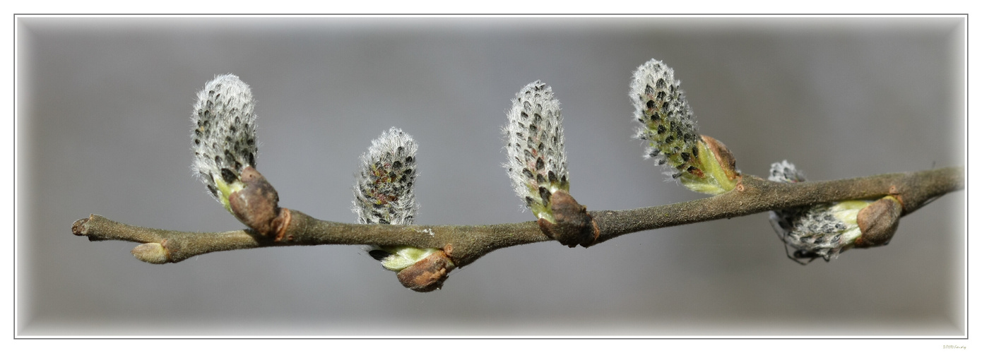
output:
[[[771, 181], [801, 182], [804, 174], [788, 161], [771, 165]], [[826, 261], [852, 247], [859, 237], [856, 216], [870, 201], [853, 200], [771, 211], [771, 225], [778, 237], [801, 255]], [[795, 260], [797, 261], [797, 260]]]

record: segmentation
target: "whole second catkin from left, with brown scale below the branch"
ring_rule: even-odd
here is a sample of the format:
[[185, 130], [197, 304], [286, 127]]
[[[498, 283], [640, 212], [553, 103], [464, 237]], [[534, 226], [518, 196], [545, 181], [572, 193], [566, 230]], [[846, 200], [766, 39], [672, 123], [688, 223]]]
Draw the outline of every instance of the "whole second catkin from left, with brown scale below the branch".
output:
[[[352, 211], [359, 224], [412, 224], [418, 207], [413, 194], [416, 149], [412, 136], [397, 127], [372, 140], [368, 152], [361, 155], [355, 180]], [[444, 251], [435, 248], [373, 246], [368, 254], [385, 269], [398, 272], [403, 285], [415, 291], [438, 289], [454, 269]]]

